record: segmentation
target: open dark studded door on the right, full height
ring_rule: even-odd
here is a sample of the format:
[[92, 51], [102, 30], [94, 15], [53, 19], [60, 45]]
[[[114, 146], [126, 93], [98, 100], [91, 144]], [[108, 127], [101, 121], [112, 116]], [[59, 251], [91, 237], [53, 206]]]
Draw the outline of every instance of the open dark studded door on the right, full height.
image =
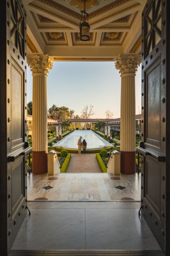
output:
[[169, 254], [169, 1], [142, 13], [141, 211]]

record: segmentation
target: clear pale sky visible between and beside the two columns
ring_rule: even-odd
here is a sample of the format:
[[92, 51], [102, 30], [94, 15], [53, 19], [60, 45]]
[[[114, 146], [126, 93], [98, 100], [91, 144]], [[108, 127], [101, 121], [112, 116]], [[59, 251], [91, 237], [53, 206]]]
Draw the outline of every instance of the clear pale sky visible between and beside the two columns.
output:
[[[27, 69], [27, 102], [32, 100], [32, 75]], [[136, 113], [141, 108], [141, 67], [135, 76]], [[94, 118], [105, 118], [106, 110], [120, 117], [121, 77], [114, 62], [59, 61], [47, 77], [47, 106], [66, 106], [81, 115], [84, 105], [93, 105]]]

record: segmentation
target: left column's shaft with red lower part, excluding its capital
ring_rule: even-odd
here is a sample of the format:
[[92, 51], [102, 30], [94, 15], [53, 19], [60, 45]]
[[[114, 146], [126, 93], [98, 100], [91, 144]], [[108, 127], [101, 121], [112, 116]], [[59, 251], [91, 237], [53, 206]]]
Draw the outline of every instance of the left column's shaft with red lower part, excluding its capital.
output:
[[[47, 172], [47, 78], [33, 74], [32, 90], [32, 172]], [[41, 159], [41, 161], [39, 161]]]

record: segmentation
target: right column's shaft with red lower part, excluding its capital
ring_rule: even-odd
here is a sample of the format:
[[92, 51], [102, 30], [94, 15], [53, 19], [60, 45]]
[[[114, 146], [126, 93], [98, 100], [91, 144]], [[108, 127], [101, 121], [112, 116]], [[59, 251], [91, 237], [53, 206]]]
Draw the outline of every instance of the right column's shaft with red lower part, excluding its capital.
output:
[[135, 79], [122, 75], [121, 81], [121, 172], [135, 172]]

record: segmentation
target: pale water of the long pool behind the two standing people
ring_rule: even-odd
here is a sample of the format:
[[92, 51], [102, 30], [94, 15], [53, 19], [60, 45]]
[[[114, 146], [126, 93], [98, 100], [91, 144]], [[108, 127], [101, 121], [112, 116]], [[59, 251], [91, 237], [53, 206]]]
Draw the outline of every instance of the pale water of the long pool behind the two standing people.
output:
[[113, 146], [111, 143], [107, 142], [105, 139], [101, 138], [93, 131], [73, 131], [71, 134], [67, 135], [61, 141], [58, 141], [53, 147], [64, 147], [64, 148], [78, 148], [78, 139], [82, 137], [87, 142], [87, 149], [92, 148], [104, 148]]

